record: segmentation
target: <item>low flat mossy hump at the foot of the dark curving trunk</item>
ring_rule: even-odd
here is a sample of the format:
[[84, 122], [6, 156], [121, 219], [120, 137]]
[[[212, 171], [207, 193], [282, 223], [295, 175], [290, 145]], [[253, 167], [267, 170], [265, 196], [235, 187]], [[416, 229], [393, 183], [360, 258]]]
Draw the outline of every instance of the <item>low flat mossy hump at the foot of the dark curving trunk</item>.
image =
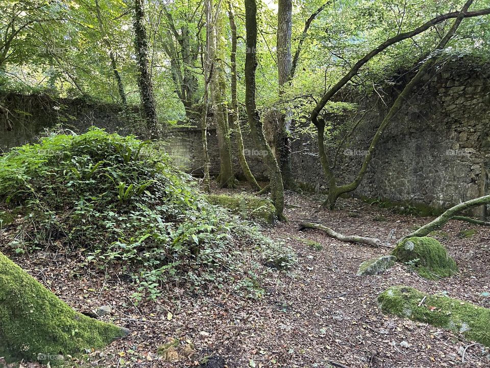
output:
[[263, 220], [267, 223], [276, 222], [276, 209], [269, 199], [256, 196], [209, 194], [206, 196], [209, 203], [220, 205], [244, 218]]

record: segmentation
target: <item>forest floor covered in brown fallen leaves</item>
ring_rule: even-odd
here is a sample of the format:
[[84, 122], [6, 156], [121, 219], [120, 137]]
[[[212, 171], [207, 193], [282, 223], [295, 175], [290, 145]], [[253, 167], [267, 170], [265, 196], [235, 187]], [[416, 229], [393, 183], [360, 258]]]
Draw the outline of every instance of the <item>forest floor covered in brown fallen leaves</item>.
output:
[[[127, 338], [89, 353], [86, 366], [187, 367], [208, 360], [211, 368], [223, 363], [229, 368], [490, 367], [488, 349], [469, 347], [463, 364], [462, 351], [471, 341], [384, 315], [377, 304], [378, 294], [389, 286], [409, 285], [490, 307], [490, 297], [484, 296], [490, 292], [488, 229], [451, 221], [439, 233], [438, 240], [459, 266], [452, 278], [425, 280], [404, 265], [357, 277], [362, 261], [389, 254], [390, 249], [342, 243], [313, 230], [299, 232], [298, 223], [319, 222], [340, 233], [387, 240], [393, 229], [398, 239], [430, 219], [398, 215], [357, 199], [341, 199], [335, 212], [322, 209], [320, 197], [313, 195], [289, 194], [286, 202], [289, 221], [265, 228], [264, 234], [291, 246], [297, 263], [261, 280], [265, 292], [258, 299], [244, 298], [227, 287], [189, 295], [169, 285], [171, 292], [164, 300], [135, 306], [130, 298], [135, 286], [111, 269], [86, 269], [80, 255], [2, 251], [70, 306], [90, 311], [110, 305], [112, 312], [103, 319], [131, 329]], [[376, 221], [379, 216], [386, 221]], [[462, 229], [476, 227], [472, 238], [458, 237]], [[7, 231], [0, 231], [0, 240], [6, 236]], [[323, 250], [298, 238], [316, 241]], [[167, 358], [176, 360], [169, 362], [159, 358], [157, 350], [171, 338], [180, 342], [167, 350]]]

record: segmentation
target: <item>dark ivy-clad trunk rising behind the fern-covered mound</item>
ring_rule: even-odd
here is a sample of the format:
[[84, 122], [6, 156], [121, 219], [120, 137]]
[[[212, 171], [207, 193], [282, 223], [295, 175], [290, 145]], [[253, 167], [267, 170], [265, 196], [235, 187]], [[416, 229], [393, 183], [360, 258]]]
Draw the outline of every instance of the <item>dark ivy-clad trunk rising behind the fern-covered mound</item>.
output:
[[138, 63], [138, 86], [141, 94], [141, 105], [146, 121], [146, 135], [150, 139], [158, 139], [159, 131], [157, 107], [153, 94], [152, 76], [148, 61], [148, 36], [144, 27], [143, 0], [134, 0], [134, 34], [136, 58]]

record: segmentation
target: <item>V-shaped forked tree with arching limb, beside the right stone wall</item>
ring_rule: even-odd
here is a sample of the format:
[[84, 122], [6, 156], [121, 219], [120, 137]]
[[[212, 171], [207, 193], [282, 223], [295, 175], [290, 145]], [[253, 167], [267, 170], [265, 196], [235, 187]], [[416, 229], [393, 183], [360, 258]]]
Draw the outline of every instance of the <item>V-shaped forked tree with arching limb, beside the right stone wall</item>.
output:
[[360, 67], [364, 65], [367, 61], [371, 60], [374, 56], [388, 48], [390, 45], [393, 45], [397, 42], [400, 42], [404, 39], [407, 39], [409, 37], [413, 37], [414, 35], [420, 34], [430, 27], [446, 20], [446, 19], [451, 19], [451, 18], [456, 18], [454, 21], [453, 26], [449, 30], [449, 32], [444, 36], [444, 38], [439, 42], [437, 45], [437, 49], [443, 49], [446, 47], [447, 42], [451, 39], [451, 37], [454, 35], [456, 30], [458, 29], [461, 21], [465, 17], [473, 17], [473, 16], [480, 16], [480, 15], [485, 15], [490, 12], [490, 9], [483, 9], [479, 11], [474, 11], [474, 12], [468, 12], [468, 8], [472, 4], [473, 0], [469, 0], [463, 7], [463, 9], [460, 12], [453, 12], [453, 13], [447, 13], [440, 15], [438, 17], [435, 17], [431, 19], [430, 21], [426, 22], [424, 25], [421, 27], [410, 31], [410, 32], [405, 32], [401, 33], [395, 37], [389, 38], [385, 42], [379, 45], [378, 48], [374, 49], [370, 53], [366, 54], [362, 59], [360, 59], [352, 68], [351, 70], [344, 76], [342, 77], [334, 86], [332, 86], [327, 93], [323, 96], [323, 98], [318, 102], [318, 104], [315, 106], [315, 108], [311, 112], [311, 121], [312, 123], [316, 126], [317, 128], [317, 144], [318, 144], [318, 154], [320, 155], [320, 160], [322, 164], [322, 168], [324, 170], [324, 173], [327, 178], [327, 183], [328, 183], [328, 188], [329, 188], [329, 194], [328, 197], [324, 203], [324, 205], [328, 206], [330, 209], [333, 209], [335, 207], [336, 201], [338, 197], [341, 194], [344, 193], [349, 193], [354, 191], [362, 181], [366, 171], [367, 167], [369, 166], [369, 163], [371, 162], [371, 158], [373, 157], [375, 148], [379, 140], [381, 139], [381, 136], [385, 129], [389, 126], [391, 119], [398, 113], [400, 108], [403, 106], [403, 102], [408, 98], [410, 95], [411, 91], [413, 90], [414, 86], [420, 82], [422, 77], [427, 73], [427, 71], [430, 69], [430, 67], [434, 64], [435, 59], [430, 58], [428, 59], [419, 69], [419, 72], [412, 78], [412, 80], [405, 86], [405, 88], [402, 90], [396, 101], [394, 102], [393, 106], [389, 109], [388, 113], [386, 114], [385, 118], [383, 119], [382, 123], [380, 124], [378, 130], [376, 131], [371, 144], [369, 146], [369, 149], [367, 150], [367, 154], [364, 158], [364, 162], [361, 166], [361, 169], [359, 170], [359, 173], [357, 174], [356, 178], [349, 184], [347, 185], [342, 185], [338, 186], [337, 185], [337, 180], [335, 177], [335, 174], [333, 173], [332, 167], [330, 165], [330, 160], [327, 156], [327, 153], [325, 151], [325, 120], [321, 117], [319, 117], [321, 110], [325, 107], [326, 103], [330, 101], [330, 99], [337, 93], [340, 88], [344, 87], [352, 77], [354, 77], [357, 72], [359, 71]]

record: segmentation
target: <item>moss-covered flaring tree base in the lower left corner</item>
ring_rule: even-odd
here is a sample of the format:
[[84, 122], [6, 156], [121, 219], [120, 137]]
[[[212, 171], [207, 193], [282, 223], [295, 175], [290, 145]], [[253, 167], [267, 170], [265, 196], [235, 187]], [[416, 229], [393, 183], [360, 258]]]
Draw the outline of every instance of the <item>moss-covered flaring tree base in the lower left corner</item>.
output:
[[117, 326], [75, 312], [0, 253], [0, 351], [8, 361], [77, 355], [124, 335]]

